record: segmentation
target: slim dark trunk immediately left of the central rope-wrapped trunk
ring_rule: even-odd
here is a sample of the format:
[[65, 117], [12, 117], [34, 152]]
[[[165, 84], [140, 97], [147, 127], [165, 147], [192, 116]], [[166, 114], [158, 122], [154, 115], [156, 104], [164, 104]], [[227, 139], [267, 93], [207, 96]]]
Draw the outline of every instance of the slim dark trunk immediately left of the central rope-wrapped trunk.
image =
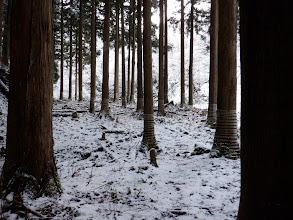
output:
[[141, 33], [142, 0], [137, 2], [137, 111], [143, 111], [142, 88], [142, 33]]

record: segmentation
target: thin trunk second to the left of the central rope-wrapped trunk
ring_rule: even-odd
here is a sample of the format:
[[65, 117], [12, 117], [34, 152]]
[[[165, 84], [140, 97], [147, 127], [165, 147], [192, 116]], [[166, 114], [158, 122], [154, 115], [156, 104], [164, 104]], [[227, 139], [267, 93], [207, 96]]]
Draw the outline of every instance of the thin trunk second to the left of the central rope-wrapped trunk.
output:
[[130, 102], [134, 102], [134, 73], [135, 73], [135, 0], [132, 1], [132, 66]]

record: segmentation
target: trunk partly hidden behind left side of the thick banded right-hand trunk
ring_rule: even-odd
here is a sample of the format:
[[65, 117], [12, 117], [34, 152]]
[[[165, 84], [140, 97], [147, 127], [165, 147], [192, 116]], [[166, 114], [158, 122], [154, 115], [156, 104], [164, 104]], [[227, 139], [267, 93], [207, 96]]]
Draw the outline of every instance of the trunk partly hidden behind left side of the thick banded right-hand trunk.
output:
[[219, 11], [218, 0], [211, 1], [211, 39], [210, 39], [210, 79], [208, 124], [214, 125], [217, 119], [218, 93], [218, 31]]

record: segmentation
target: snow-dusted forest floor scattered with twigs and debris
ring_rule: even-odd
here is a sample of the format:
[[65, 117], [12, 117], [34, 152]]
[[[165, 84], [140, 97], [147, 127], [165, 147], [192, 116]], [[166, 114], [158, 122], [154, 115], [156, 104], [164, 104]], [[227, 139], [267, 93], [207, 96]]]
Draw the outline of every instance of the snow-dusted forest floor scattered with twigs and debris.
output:
[[[55, 101], [54, 150], [63, 193], [37, 199], [24, 194], [26, 207], [52, 219], [236, 219], [240, 160], [194, 151], [212, 147], [215, 130], [206, 125], [206, 109], [168, 105], [166, 116], [155, 116], [156, 168], [139, 152], [143, 116], [135, 105], [110, 103], [111, 118], [90, 114], [87, 106]], [[5, 136], [7, 109], [0, 110]], [[0, 168], [3, 162], [0, 157]], [[0, 209], [9, 199], [0, 200]], [[19, 216], [10, 211], [0, 217]]]

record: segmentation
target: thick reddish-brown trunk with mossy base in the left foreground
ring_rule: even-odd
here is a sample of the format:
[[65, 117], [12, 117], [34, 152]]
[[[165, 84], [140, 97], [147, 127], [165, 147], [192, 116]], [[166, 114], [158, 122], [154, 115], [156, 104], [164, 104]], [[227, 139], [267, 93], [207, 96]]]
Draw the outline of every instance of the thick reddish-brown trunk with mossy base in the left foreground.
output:
[[53, 71], [52, 2], [13, 0], [7, 148], [2, 173], [7, 193], [12, 190], [20, 195], [29, 189], [40, 195], [49, 182], [55, 182], [52, 179], [56, 180]]

